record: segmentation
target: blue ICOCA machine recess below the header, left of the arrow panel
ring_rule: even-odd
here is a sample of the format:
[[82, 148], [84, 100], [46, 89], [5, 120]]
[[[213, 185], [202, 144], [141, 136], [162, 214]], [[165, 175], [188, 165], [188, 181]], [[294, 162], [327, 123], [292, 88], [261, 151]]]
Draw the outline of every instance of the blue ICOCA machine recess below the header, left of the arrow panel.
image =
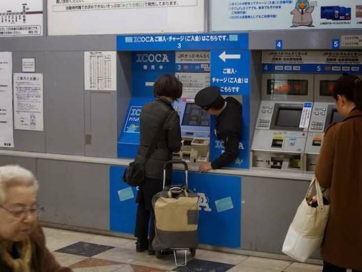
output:
[[118, 156], [134, 158], [142, 107], [154, 99], [155, 80], [167, 73], [182, 82], [182, 97], [173, 103], [180, 116], [182, 147], [174, 157], [188, 163], [208, 162], [210, 115], [195, 104], [194, 97], [210, 86], [210, 51], [136, 51], [131, 54], [131, 63], [132, 97], [118, 141]]

